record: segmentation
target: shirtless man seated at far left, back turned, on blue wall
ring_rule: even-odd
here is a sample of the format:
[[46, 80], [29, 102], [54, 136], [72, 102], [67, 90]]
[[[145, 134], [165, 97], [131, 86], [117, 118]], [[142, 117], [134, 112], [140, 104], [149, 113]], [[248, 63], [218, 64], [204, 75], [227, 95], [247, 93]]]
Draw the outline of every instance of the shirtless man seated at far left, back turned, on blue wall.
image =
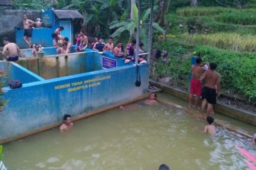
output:
[[[18, 60], [18, 53], [20, 52], [19, 47], [15, 43], [9, 42], [9, 38], [3, 38], [4, 49], [2, 51], [2, 55], [7, 59], [9, 62], [15, 62]], [[6, 52], [8, 51], [8, 55]]]

